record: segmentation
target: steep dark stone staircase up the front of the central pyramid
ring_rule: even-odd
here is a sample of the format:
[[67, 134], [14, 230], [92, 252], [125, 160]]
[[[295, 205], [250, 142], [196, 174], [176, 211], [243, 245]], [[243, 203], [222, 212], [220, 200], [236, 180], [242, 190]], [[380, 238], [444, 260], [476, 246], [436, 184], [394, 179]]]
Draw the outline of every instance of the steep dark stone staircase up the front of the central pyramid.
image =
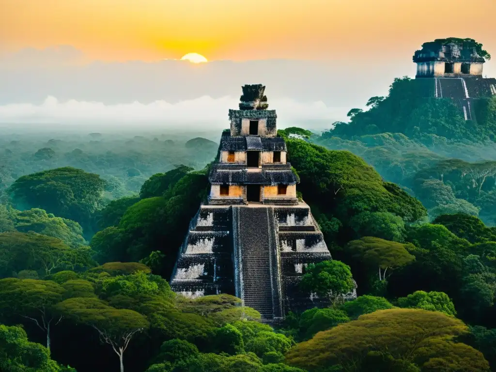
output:
[[240, 297], [245, 306], [260, 312], [262, 320], [277, 317], [278, 308], [277, 296], [276, 304], [273, 299], [273, 285], [279, 275], [272, 275], [277, 265], [274, 265], [275, 242], [270, 231], [273, 216], [269, 216], [269, 212], [267, 207], [239, 207], [238, 216]]

